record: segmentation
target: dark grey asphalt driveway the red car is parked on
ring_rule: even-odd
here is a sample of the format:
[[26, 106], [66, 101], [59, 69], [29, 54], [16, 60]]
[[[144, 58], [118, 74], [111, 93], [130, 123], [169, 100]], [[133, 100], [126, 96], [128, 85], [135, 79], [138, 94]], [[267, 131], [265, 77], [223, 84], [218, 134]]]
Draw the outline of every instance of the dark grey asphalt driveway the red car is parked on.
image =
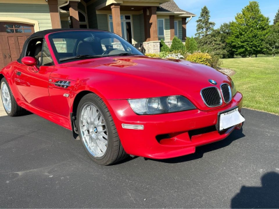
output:
[[279, 116], [242, 114], [242, 131], [193, 155], [110, 167], [63, 127], [2, 116], [0, 208], [279, 208]]

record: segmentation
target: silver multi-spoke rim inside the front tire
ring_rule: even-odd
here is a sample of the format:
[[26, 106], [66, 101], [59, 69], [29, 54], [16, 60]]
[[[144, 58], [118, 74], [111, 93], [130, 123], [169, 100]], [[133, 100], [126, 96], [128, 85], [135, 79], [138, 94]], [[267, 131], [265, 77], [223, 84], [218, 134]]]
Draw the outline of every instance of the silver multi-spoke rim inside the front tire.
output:
[[87, 150], [94, 157], [103, 157], [107, 151], [107, 126], [100, 110], [93, 104], [86, 104], [80, 115], [81, 138]]

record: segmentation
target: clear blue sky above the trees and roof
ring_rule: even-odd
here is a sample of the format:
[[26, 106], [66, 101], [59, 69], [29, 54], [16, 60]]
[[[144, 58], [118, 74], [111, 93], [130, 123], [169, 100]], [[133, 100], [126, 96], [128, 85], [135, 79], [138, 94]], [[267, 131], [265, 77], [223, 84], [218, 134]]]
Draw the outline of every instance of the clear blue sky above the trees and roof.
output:
[[[210, 21], [215, 22], [214, 29], [225, 23], [234, 20], [236, 13], [241, 13], [241, 10], [249, 4], [249, 0], [174, 0], [179, 8], [197, 15], [193, 17], [187, 24], [187, 36], [195, 36], [197, 19], [206, 6], [210, 11]], [[269, 17], [271, 24], [279, 9], [279, 0], [258, 0], [259, 8], [262, 14]]]

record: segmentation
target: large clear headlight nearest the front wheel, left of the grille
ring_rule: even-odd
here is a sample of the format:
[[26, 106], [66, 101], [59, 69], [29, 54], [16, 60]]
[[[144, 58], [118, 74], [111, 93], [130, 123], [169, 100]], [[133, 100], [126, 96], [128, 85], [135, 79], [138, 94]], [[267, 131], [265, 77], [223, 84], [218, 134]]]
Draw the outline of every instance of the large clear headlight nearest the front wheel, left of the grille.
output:
[[179, 95], [162, 98], [128, 100], [128, 102], [133, 111], [139, 115], [163, 114], [196, 109], [194, 104], [188, 99]]

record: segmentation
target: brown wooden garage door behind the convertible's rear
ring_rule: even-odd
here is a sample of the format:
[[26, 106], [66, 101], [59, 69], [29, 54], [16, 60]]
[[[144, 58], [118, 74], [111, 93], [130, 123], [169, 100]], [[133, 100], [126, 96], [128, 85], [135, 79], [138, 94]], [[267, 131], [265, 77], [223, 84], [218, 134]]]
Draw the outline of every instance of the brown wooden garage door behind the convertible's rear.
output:
[[0, 68], [20, 57], [24, 42], [32, 33], [33, 25], [0, 22]]

